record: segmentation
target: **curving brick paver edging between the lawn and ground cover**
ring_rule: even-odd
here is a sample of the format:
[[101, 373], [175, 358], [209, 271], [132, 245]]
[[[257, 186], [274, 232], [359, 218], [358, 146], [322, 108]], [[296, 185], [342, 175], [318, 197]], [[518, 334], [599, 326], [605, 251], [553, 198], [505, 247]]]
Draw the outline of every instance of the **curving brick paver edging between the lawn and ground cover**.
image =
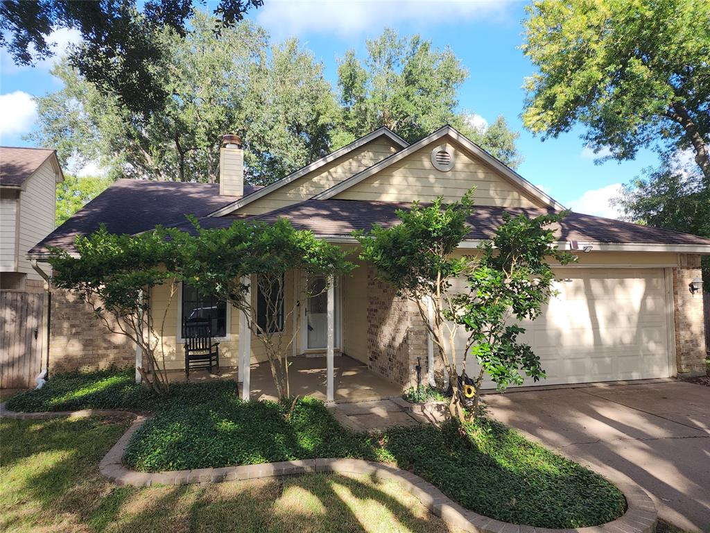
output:
[[94, 414], [130, 414], [136, 416], [131, 427], [119, 438], [109, 453], [99, 463], [99, 470], [109, 480], [118, 485], [148, 487], [151, 485], [186, 485], [189, 483], [220, 483], [223, 481], [278, 478], [285, 475], [305, 473], [345, 473], [374, 475], [380, 480], [395, 480], [405, 490], [415, 495], [429, 512], [441, 517], [452, 527], [471, 533], [653, 533], [657, 513], [652, 500], [638, 485], [617, 483], [616, 486], [626, 497], [626, 513], [607, 524], [579, 529], [547, 529], [532, 526], [508, 524], [477, 514], [461, 507], [431, 483], [407, 470], [394, 466], [361, 459], [305, 459], [302, 461], [281, 461], [261, 465], [226, 466], [222, 468], [199, 468], [197, 470], [172, 470], [169, 472], [147, 473], [129, 470], [121, 463], [126, 446], [133, 434], [146, 422], [148, 417], [129, 411], [87, 409], [51, 413], [13, 413], [0, 405], [0, 413], [13, 419], [46, 419], [56, 416], [92, 416]]

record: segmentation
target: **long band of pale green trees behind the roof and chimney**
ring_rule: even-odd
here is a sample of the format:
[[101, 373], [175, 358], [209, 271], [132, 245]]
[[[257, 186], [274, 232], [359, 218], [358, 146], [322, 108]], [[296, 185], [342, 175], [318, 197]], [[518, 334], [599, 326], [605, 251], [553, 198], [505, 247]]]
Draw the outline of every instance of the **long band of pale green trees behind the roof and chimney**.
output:
[[[164, 51], [152, 67], [154, 79], [172, 97], [148, 117], [124, 105], [119, 92], [87, 80], [71, 58], [58, 63], [53, 74], [63, 87], [37, 98], [39, 129], [30, 139], [58, 149], [62, 165], [76, 166], [70, 171], [98, 160], [111, 178], [213, 183], [219, 175], [219, 139], [225, 133], [241, 135], [246, 180], [259, 185], [381, 125], [413, 139], [453, 124], [510, 166], [520, 161], [518, 135], [502, 117], [476, 128], [468, 115], [457, 111], [457, 80], [466, 71], [451, 50], [432, 49], [415, 36], [407, 41], [408, 54], [415, 59], [408, 59], [394, 48], [405, 40], [386, 31], [371, 44], [373, 54], [396, 57], [399, 63], [391, 72], [363, 68], [366, 87], [374, 83], [381, 90], [367, 88], [364, 99], [351, 104], [336, 96], [322, 63], [295, 39], [271, 44], [266, 32], [250, 21], [215, 33], [217, 23], [219, 19], [195, 11], [184, 35], [173, 28], [155, 32], [155, 43]], [[349, 68], [358, 70], [359, 61], [349, 57]], [[341, 90], [352, 85], [347, 70], [343, 63]], [[406, 81], [403, 90], [384, 87], [393, 75], [402, 84]], [[383, 122], [382, 117], [391, 119]]]

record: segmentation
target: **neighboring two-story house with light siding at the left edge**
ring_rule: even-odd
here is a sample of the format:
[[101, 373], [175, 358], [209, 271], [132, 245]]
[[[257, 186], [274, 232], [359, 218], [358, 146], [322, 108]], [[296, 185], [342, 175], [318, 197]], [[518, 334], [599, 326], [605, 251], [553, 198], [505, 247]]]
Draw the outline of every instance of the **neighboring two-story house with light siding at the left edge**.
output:
[[0, 289], [42, 290], [27, 252], [54, 229], [62, 181], [56, 151], [0, 147]]

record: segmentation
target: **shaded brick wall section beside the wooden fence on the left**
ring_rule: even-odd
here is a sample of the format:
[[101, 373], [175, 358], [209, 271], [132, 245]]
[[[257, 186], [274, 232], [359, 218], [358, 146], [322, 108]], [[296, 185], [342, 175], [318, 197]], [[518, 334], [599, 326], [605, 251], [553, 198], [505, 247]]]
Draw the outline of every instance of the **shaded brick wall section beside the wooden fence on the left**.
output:
[[132, 366], [136, 348], [125, 335], [111, 333], [91, 307], [60, 289], [52, 290], [50, 372]]

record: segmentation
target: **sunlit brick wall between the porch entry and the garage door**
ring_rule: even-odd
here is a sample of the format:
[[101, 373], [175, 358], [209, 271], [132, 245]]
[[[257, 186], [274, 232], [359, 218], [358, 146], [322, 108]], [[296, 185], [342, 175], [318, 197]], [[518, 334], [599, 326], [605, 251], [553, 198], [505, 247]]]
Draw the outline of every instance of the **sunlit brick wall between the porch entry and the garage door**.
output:
[[426, 379], [427, 330], [415, 303], [396, 296], [368, 268], [367, 345], [369, 367], [403, 389], [416, 382], [417, 357]]

